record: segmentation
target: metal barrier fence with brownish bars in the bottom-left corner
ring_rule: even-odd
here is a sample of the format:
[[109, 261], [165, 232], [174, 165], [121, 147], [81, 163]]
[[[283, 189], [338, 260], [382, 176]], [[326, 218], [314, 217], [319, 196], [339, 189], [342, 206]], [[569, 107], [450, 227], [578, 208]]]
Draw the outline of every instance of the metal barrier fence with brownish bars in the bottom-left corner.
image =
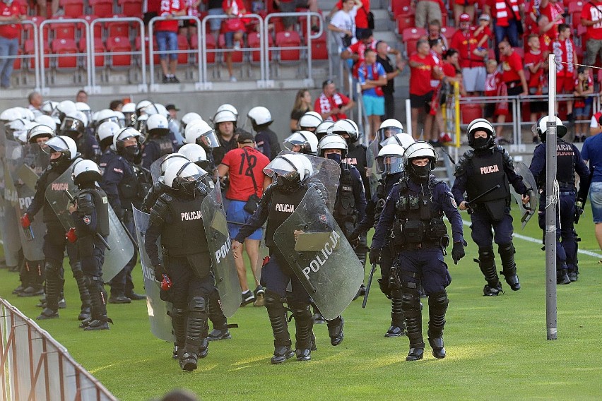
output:
[[2, 400], [117, 401], [67, 350], [0, 298]]

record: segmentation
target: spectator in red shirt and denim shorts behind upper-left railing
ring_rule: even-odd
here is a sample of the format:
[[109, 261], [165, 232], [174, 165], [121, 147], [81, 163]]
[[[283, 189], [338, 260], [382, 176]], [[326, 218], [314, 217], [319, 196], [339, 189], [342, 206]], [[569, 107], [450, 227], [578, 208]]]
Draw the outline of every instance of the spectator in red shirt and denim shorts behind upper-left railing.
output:
[[[184, 2], [179, 0], [161, 1], [159, 16], [165, 17], [165, 20], [155, 22], [155, 37], [157, 38], [157, 47], [159, 48], [159, 62], [161, 71], [163, 71], [163, 83], [179, 83], [175, 76], [177, 66], [177, 30], [178, 21], [175, 16], [183, 16], [186, 13]], [[170, 65], [167, 68], [167, 57], [170, 58]]]

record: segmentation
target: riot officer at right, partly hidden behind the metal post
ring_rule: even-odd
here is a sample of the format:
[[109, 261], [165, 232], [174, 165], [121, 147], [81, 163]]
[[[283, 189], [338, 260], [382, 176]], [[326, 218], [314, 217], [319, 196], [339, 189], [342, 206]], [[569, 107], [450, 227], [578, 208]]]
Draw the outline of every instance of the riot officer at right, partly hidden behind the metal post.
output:
[[[544, 230], [545, 237], [545, 135], [548, 131], [548, 116], [543, 116], [537, 124], [536, 132], [541, 139], [533, 151], [533, 159], [529, 169], [535, 177], [540, 188], [539, 199], [539, 227]], [[587, 198], [589, 192], [589, 169], [581, 157], [581, 152], [572, 143], [567, 143], [562, 138], [567, 133], [567, 127], [556, 117], [556, 180], [560, 187], [558, 199], [558, 215], [556, 217], [556, 282], [569, 284], [577, 280], [579, 268], [577, 266], [577, 233], [574, 230], [577, 202]], [[575, 173], [579, 176], [579, 191], [575, 186]], [[559, 227], [560, 225], [560, 227]]]

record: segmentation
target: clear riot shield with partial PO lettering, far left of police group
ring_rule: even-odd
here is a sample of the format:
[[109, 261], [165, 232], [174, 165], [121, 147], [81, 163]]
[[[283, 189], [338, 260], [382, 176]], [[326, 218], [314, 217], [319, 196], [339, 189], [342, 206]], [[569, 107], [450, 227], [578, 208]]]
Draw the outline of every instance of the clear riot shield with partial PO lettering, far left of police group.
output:
[[[16, 191], [15, 204], [17, 216], [22, 216], [35, 196], [37, 178], [48, 167], [50, 157], [37, 144], [19, 145], [15, 142], [6, 144], [6, 161], [11, 176], [12, 186]], [[25, 236], [23, 229], [18, 229], [23, 255], [28, 261], [44, 260], [42, 245], [46, 225], [42, 222], [42, 210], [34, 216], [31, 224], [33, 238]]]

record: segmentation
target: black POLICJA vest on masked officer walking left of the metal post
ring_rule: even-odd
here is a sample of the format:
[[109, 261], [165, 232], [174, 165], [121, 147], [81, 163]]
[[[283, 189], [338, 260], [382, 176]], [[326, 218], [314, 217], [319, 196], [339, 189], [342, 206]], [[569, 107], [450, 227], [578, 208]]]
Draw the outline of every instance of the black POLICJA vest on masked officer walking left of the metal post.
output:
[[504, 172], [504, 155], [502, 152], [494, 150], [485, 154], [475, 153], [471, 157], [470, 163], [473, 167], [473, 174], [468, 177], [466, 183], [466, 194], [469, 201], [489, 191], [497, 184], [500, 184], [500, 188], [491, 191], [482, 198], [478, 198], [477, 203], [509, 197], [510, 188], [508, 177]]

